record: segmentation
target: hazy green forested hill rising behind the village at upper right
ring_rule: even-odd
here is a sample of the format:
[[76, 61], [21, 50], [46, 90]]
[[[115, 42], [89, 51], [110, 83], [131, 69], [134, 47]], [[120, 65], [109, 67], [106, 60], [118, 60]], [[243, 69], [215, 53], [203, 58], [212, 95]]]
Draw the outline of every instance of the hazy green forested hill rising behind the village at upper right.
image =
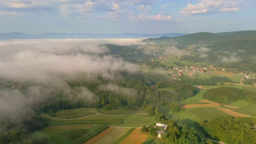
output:
[[145, 42], [186, 50], [181, 60], [216, 67], [256, 71], [256, 30], [210, 33], [199, 32], [177, 37], [150, 38]]

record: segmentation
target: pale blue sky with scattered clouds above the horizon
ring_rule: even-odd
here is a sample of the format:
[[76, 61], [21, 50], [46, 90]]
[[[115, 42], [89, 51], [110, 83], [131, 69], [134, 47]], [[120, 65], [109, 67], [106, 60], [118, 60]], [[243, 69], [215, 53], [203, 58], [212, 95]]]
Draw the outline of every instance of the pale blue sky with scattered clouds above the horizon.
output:
[[0, 0], [0, 33], [256, 30], [256, 0]]

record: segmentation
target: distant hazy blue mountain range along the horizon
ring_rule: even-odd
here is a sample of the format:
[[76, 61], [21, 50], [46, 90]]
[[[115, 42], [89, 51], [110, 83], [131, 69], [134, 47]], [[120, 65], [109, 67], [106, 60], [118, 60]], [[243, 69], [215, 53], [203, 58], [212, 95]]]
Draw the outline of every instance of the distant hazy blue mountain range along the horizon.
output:
[[184, 36], [186, 34], [180, 33], [169, 33], [169, 34], [85, 34], [85, 33], [45, 33], [39, 35], [24, 34], [21, 32], [13, 33], [0, 33], [0, 40], [9, 40], [9, 39], [51, 39], [51, 38], [153, 38], [153, 37], [175, 37], [175, 36]]

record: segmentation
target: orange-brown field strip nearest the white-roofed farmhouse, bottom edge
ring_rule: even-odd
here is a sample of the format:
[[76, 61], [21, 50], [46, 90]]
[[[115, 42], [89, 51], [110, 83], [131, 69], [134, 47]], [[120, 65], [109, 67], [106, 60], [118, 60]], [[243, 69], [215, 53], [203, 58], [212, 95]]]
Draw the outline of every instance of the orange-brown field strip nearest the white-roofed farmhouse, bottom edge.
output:
[[148, 135], [140, 133], [141, 128], [136, 128], [126, 139], [120, 144], [142, 144], [148, 139]]

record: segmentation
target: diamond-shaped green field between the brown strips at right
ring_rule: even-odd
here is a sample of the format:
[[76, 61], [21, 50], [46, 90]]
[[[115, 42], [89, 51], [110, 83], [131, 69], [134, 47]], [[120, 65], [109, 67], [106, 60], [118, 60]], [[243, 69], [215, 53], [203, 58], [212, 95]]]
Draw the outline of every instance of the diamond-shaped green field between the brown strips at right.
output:
[[225, 112], [222, 112], [213, 107], [191, 108], [188, 109], [188, 111], [198, 116], [201, 120], [212, 120], [216, 117], [229, 116]]

